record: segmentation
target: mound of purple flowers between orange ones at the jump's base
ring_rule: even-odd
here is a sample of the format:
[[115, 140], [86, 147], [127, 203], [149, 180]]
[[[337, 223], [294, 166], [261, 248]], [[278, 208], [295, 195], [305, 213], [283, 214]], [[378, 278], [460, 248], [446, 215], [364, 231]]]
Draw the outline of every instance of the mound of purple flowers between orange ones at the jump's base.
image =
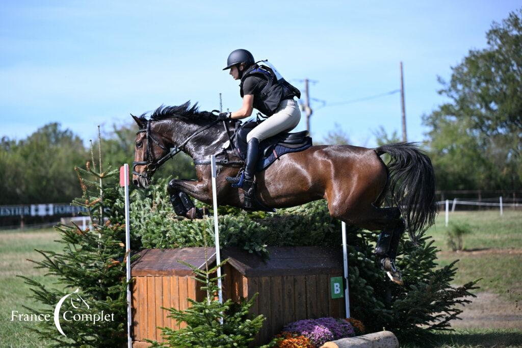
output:
[[303, 335], [316, 346], [354, 335], [353, 327], [349, 322], [334, 318], [305, 319], [291, 322], [283, 328], [283, 331]]

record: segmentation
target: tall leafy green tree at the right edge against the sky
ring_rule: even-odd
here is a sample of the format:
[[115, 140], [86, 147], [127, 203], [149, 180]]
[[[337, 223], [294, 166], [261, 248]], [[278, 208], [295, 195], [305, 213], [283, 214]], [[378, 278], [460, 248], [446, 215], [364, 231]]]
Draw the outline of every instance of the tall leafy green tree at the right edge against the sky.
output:
[[522, 187], [522, 9], [486, 34], [439, 91], [449, 99], [423, 122], [439, 189]]

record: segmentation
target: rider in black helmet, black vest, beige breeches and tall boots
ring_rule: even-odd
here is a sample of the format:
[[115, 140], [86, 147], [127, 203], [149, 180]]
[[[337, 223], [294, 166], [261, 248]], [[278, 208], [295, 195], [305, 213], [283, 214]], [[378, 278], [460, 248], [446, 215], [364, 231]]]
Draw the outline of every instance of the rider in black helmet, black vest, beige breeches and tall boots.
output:
[[283, 131], [295, 128], [301, 119], [297, 101], [298, 89], [282, 78], [277, 78], [274, 70], [259, 66], [254, 56], [247, 50], [235, 50], [227, 59], [227, 67], [234, 80], [241, 80], [240, 95], [243, 98], [241, 109], [234, 112], [222, 112], [218, 119], [241, 119], [252, 115], [255, 108], [268, 118], [253, 128], [247, 135], [247, 153], [244, 171], [237, 177], [227, 177], [233, 187], [242, 187], [244, 191], [243, 207], [256, 210], [254, 174], [259, 158], [259, 142]]

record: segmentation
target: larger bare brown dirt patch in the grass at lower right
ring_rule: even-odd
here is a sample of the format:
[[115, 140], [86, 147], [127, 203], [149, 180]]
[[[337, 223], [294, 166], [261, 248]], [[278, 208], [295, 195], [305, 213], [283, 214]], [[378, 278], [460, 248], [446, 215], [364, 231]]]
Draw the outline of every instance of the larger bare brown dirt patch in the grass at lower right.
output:
[[462, 320], [453, 320], [453, 328], [522, 329], [522, 303], [490, 293], [479, 292], [464, 306]]

